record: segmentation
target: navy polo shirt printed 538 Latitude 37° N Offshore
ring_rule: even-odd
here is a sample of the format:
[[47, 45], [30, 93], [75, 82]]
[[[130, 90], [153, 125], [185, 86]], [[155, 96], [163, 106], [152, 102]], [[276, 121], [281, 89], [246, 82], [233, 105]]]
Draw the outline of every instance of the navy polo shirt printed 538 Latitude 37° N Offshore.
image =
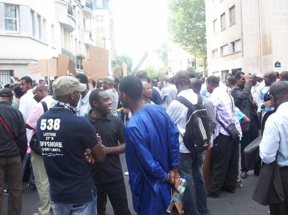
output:
[[84, 153], [98, 143], [93, 126], [68, 109], [50, 108], [36, 127], [51, 200], [63, 204], [91, 201], [91, 192], [97, 190]]

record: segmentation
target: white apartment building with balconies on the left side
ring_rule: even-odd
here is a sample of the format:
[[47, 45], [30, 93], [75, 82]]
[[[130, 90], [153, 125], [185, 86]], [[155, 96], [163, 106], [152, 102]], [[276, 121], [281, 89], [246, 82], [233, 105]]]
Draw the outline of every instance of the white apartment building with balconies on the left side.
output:
[[[0, 80], [29, 76], [28, 64], [64, 54], [81, 73], [89, 58], [93, 16], [90, 0], [3, 0], [0, 2]], [[33, 77], [34, 79], [40, 77]]]

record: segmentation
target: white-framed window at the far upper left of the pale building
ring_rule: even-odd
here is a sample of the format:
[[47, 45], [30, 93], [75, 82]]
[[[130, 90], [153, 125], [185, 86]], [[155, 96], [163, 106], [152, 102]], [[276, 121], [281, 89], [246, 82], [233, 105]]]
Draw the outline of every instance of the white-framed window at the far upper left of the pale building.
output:
[[18, 7], [5, 5], [5, 30], [6, 31], [18, 31], [19, 18]]

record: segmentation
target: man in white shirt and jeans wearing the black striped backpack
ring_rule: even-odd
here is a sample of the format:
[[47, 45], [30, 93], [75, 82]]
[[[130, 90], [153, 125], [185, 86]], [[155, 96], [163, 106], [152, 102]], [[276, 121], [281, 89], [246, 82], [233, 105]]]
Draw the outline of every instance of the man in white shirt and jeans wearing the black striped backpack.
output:
[[[197, 104], [198, 96], [193, 92], [192, 89], [189, 89], [189, 76], [188, 73], [184, 70], [177, 71], [175, 75], [175, 85], [179, 91], [177, 96], [183, 96], [192, 104]], [[209, 209], [207, 208], [207, 193], [203, 175], [193, 174], [193, 165], [197, 156], [190, 152], [184, 145], [183, 136], [186, 131], [186, 119], [187, 119], [188, 108], [183, 105], [181, 102], [174, 100], [168, 106], [167, 113], [177, 126], [180, 135], [179, 135], [179, 151], [180, 151], [180, 160], [179, 160], [179, 172], [181, 176], [187, 176], [187, 186], [183, 193], [182, 204], [185, 214], [209, 214]], [[202, 160], [203, 162], [203, 160]], [[201, 165], [202, 166], [202, 165]], [[195, 182], [195, 186], [198, 186], [197, 191], [197, 205], [194, 195], [194, 188], [192, 184], [192, 174]], [[198, 211], [198, 212], [197, 212]]]

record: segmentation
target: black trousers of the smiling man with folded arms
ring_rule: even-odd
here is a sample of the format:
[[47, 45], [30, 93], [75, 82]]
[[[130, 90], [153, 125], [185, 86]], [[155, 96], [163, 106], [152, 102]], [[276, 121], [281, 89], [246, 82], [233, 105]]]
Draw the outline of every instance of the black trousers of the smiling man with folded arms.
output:
[[104, 214], [104, 205], [106, 205], [108, 195], [115, 215], [130, 215], [128, 208], [126, 187], [124, 179], [119, 179], [106, 184], [96, 184], [97, 187], [97, 213]]

